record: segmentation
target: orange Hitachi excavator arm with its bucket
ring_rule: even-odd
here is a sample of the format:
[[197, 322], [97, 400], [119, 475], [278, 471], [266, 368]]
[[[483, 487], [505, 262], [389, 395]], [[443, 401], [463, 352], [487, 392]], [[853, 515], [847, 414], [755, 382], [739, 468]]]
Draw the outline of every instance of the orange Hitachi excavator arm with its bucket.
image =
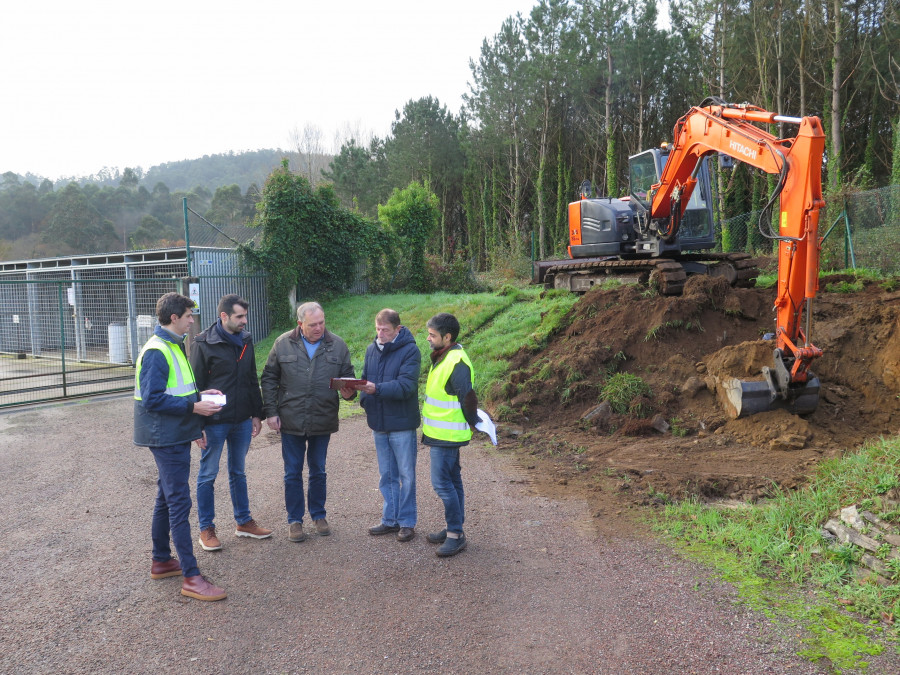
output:
[[[822, 355], [808, 341], [810, 303], [819, 288], [819, 210], [825, 205], [822, 123], [817, 117], [784, 117], [747, 104], [707, 103], [691, 108], [675, 125], [668, 162], [648, 196], [648, 217], [664, 240], [675, 239], [706, 155], [728, 155], [778, 176], [760, 219], [760, 229], [770, 230], [763, 233], [778, 241], [775, 366], [764, 369], [765, 383], [732, 383], [728, 398], [738, 417], [775, 407], [812, 412], [818, 403], [818, 380], [809, 366]], [[753, 123], [788, 123], [799, 130], [792, 138], [777, 138]], [[778, 230], [771, 232], [763, 221], [779, 198]]]

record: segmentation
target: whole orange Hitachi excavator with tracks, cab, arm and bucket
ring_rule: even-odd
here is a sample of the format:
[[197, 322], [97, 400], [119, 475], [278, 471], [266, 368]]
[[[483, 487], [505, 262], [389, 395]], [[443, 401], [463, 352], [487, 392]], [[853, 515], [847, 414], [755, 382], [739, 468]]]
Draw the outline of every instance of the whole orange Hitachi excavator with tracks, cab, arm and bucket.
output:
[[[794, 137], [777, 138], [755, 124], [796, 125], [798, 131]], [[663, 293], [680, 293], [688, 273], [722, 274], [733, 285], [752, 285], [756, 272], [746, 269], [748, 255], [692, 253], [715, 246], [706, 162], [718, 154], [720, 164], [740, 160], [774, 174], [778, 183], [759, 221], [760, 232], [778, 242], [774, 366], [763, 369], [762, 381], [722, 383], [724, 402], [734, 417], [777, 408], [812, 413], [819, 380], [809, 367], [822, 351], [808, 336], [811, 301], [819, 287], [824, 148], [817, 117], [786, 117], [749, 104], [707, 99], [678, 120], [671, 146], [629, 159], [629, 197], [591, 199], [589, 185], [582, 188], [582, 198], [569, 204], [572, 259], [536, 263], [535, 281], [586, 290], [604, 274], [652, 266]]]

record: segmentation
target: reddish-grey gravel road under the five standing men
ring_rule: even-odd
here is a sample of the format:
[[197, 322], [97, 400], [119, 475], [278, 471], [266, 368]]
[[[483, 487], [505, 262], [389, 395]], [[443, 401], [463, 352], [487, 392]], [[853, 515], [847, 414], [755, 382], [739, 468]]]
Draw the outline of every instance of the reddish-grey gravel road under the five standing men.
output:
[[268, 430], [248, 480], [275, 535], [234, 537], [223, 461], [224, 550], [195, 551], [229, 597], [185, 598], [180, 577], [149, 576], [156, 468], [131, 426], [128, 398], [0, 415], [0, 672], [827, 672], [727, 585], [657, 544], [600, 537], [584, 503], [533, 494], [481, 443], [463, 459], [466, 551], [440, 559], [425, 541], [442, 526], [427, 452], [417, 537], [369, 536], [381, 497], [363, 417], [331, 440], [331, 537], [287, 540]]

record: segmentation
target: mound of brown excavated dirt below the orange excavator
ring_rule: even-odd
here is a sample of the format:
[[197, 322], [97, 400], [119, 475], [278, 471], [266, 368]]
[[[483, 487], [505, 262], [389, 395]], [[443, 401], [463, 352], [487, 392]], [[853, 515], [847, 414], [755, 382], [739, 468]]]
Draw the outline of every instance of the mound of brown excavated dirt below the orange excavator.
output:
[[[823, 279], [822, 289], [828, 279]], [[823, 458], [900, 432], [900, 293], [867, 284], [820, 292], [810, 337], [824, 351], [816, 411], [733, 420], [713, 375], [759, 379], [771, 365], [774, 289], [691, 277], [680, 297], [640, 286], [587, 293], [541, 352], [519, 352], [495, 392], [513, 410], [522, 451], [555, 483], [639, 502], [687, 495], [754, 499], [801, 484]], [[634, 414], [597, 408], [617, 372], [650, 392]], [[586, 413], [590, 413], [586, 417]], [[520, 436], [521, 437], [521, 436]]]

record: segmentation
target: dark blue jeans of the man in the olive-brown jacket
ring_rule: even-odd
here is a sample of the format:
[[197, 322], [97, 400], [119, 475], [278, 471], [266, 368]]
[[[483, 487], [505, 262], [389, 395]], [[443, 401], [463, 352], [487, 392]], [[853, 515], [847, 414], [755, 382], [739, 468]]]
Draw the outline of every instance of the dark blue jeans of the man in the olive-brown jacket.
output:
[[325, 458], [328, 441], [324, 436], [295, 436], [281, 432], [281, 456], [284, 459], [284, 505], [288, 523], [302, 523], [306, 507], [303, 503], [303, 457], [309, 464], [309, 515], [313, 520], [325, 517]]

